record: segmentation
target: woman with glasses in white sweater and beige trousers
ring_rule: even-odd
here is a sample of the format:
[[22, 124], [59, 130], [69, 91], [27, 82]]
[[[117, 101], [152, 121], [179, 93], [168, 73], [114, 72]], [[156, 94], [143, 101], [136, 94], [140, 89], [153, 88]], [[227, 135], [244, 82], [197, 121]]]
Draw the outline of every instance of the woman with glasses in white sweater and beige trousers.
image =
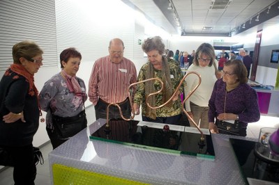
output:
[[[188, 68], [188, 72], [197, 72], [202, 78], [201, 84], [197, 90], [195, 90], [193, 95], [186, 100], [186, 111], [190, 117], [199, 124], [200, 128], [209, 128], [208, 104], [214, 83], [217, 80], [216, 66], [217, 61], [215, 60], [214, 48], [209, 43], [203, 43], [197, 48], [193, 65], [190, 65]], [[190, 91], [197, 86], [197, 83], [197, 75], [190, 74], [186, 78], [186, 92], [190, 93]], [[194, 124], [191, 121], [190, 126], [194, 127]]]

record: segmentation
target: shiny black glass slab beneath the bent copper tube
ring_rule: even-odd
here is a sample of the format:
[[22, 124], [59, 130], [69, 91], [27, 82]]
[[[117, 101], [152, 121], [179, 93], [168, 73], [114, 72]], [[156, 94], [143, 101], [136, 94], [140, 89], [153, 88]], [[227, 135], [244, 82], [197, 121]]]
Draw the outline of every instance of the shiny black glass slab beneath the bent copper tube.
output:
[[195, 127], [160, 124], [136, 120], [110, 120], [91, 134], [91, 140], [103, 140], [145, 150], [188, 154], [215, 159], [211, 135], [204, 129], [204, 140]]

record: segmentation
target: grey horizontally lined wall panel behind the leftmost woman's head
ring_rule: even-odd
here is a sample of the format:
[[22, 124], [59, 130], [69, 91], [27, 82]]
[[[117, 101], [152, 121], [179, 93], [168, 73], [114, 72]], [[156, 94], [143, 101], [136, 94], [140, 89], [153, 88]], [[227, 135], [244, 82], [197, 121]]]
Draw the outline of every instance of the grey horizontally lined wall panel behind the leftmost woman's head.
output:
[[57, 65], [54, 0], [0, 1], [0, 71], [13, 63], [12, 47], [22, 40], [43, 49], [44, 67]]

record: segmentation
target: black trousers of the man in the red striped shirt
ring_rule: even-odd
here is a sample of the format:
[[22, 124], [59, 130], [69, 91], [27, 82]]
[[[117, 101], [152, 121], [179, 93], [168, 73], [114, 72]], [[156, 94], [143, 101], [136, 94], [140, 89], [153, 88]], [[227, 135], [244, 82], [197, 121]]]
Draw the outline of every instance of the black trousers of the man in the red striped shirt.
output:
[[[96, 120], [99, 118], [107, 119], [107, 102], [102, 99], [98, 100], [98, 103], [95, 106]], [[122, 114], [124, 118], [130, 118], [131, 116], [131, 107], [129, 99], [127, 98], [124, 102], [119, 103]], [[121, 118], [119, 108], [117, 106], [111, 105], [109, 111], [109, 120], [123, 120]]]

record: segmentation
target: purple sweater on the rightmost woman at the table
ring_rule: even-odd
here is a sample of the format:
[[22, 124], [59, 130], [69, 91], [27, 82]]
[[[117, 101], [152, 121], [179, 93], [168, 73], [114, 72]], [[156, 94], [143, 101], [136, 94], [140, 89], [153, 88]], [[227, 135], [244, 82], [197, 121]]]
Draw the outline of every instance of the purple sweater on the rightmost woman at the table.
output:
[[[214, 122], [217, 115], [224, 113], [225, 92], [226, 83], [218, 79], [209, 99], [209, 122]], [[227, 92], [225, 113], [238, 114], [239, 121], [245, 123], [242, 127], [247, 127], [248, 122], [257, 122], [260, 113], [256, 91], [244, 83]]]

